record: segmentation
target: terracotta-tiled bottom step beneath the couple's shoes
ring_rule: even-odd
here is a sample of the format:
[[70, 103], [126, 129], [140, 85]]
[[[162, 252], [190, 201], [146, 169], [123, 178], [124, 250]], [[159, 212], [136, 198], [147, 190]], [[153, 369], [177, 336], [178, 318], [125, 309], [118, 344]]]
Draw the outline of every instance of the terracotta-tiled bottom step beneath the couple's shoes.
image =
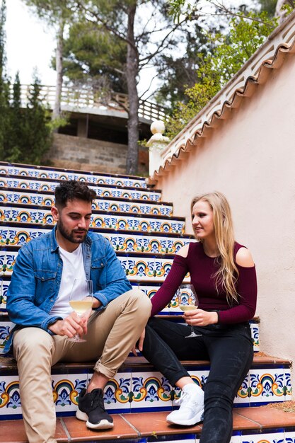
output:
[[[74, 417], [58, 418], [58, 442], [100, 442], [128, 439], [132, 442], [156, 442], [157, 439], [189, 439], [196, 442], [202, 425], [180, 427], [166, 423], [167, 413], [140, 413], [113, 415], [112, 430], [91, 431], [85, 422]], [[231, 443], [294, 442], [295, 413], [287, 413], [262, 406], [236, 408], [233, 411], [233, 437]], [[23, 420], [1, 422], [0, 443], [27, 443]], [[208, 442], [209, 443], [209, 442]]]

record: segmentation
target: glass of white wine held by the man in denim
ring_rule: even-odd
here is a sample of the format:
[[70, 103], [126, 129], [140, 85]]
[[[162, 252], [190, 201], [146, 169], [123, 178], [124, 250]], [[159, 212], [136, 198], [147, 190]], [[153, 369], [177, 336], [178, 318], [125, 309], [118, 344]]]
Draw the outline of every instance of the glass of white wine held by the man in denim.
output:
[[[73, 287], [71, 288], [71, 295], [69, 300], [71, 309], [76, 312], [79, 317], [83, 317], [92, 309], [93, 305], [93, 284], [92, 280], [75, 279]], [[86, 342], [85, 338], [79, 337], [79, 334], [74, 335], [73, 338], [68, 339], [71, 342], [82, 343]]]

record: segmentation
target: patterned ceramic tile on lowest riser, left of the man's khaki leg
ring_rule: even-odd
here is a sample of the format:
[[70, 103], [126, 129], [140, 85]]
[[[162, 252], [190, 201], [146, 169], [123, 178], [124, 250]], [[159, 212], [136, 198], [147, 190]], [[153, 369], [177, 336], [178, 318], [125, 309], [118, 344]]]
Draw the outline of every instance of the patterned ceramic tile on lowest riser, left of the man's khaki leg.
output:
[[18, 376], [0, 376], [0, 415], [4, 420], [7, 416], [21, 414], [21, 397]]

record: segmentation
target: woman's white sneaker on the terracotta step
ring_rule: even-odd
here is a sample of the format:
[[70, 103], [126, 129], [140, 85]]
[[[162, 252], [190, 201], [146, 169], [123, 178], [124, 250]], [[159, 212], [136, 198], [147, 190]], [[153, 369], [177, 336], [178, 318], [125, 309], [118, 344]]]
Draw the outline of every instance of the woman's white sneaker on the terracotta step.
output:
[[203, 420], [204, 392], [197, 384], [186, 384], [175, 403], [180, 403], [180, 408], [167, 415], [168, 423], [190, 426]]

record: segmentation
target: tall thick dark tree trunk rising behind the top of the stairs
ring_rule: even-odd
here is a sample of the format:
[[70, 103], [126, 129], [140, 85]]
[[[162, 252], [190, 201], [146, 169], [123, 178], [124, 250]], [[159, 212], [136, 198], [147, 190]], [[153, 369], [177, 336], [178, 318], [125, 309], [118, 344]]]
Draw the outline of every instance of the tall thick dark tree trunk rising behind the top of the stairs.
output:
[[128, 115], [128, 151], [126, 172], [135, 175], [138, 168], [138, 140], [139, 140], [139, 99], [137, 93], [137, 76], [139, 74], [139, 57], [134, 41], [134, 16], [137, 3], [134, 1], [128, 8], [128, 30], [127, 30], [127, 91], [129, 98]]

